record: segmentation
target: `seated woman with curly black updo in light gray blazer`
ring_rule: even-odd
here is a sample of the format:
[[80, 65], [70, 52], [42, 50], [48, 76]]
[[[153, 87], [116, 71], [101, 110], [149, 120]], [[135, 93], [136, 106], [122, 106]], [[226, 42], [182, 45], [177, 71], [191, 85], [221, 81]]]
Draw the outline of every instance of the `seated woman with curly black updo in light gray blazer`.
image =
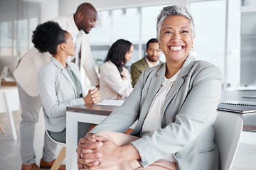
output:
[[[38, 90], [43, 104], [46, 130], [54, 140], [65, 142], [66, 107], [97, 103], [100, 92], [85, 89], [80, 81], [78, 66], [66, 62], [69, 55], [75, 55], [73, 38], [58, 23], [48, 21], [33, 31], [32, 42], [39, 52], [50, 52], [52, 60], [41, 68], [38, 74]], [[78, 137], [83, 137], [90, 124], [78, 125]]]

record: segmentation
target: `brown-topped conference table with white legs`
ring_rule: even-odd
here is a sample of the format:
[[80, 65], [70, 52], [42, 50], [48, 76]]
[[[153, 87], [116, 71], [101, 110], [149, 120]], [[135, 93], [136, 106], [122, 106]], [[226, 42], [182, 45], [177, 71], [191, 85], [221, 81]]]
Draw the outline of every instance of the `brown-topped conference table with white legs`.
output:
[[[255, 96], [255, 98], [254, 98]], [[256, 91], [223, 91], [220, 102], [224, 101], [255, 101]], [[78, 146], [78, 122], [98, 124], [118, 106], [99, 106], [93, 104], [85, 104], [80, 106], [67, 107], [67, 126], [66, 126], [66, 167], [67, 169], [78, 169], [78, 154], [76, 149]], [[218, 111], [223, 113], [224, 111]], [[247, 132], [256, 131], [256, 113], [233, 113], [238, 115], [244, 122], [243, 130]], [[135, 125], [135, 124], [134, 124]], [[132, 128], [134, 127], [132, 126]]]

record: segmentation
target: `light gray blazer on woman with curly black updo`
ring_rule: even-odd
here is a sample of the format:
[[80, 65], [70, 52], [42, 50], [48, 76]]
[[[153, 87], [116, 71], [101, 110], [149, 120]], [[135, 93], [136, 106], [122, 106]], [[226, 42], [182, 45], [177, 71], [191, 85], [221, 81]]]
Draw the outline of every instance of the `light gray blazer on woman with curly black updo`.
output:
[[[67, 63], [80, 80], [78, 66]], [[81, 81], [80, 81], [81, 84]], [[82, 86], [82, 97], [85, 89]], [[46, 130], [60, 132], [66, 127], [66, 107], [84, 104], [83, 98], [78, 98], [75, 85], [65, 68], [54, 57], [38, 74], [38, 90], [43, 104], [43, 115]]]

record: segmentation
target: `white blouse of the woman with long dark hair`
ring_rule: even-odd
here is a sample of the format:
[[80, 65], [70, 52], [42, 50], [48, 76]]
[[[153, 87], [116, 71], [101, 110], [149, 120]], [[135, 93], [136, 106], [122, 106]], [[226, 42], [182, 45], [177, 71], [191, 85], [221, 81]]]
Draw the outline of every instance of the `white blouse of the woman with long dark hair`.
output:
[[127, 68], [123, 68], [125, 77], [122, 79], [117, 67], [110, 61], [102, 65], [100, 71], [100, 95], [104, 99], [127, 98], [132, 92], [131, 75]]

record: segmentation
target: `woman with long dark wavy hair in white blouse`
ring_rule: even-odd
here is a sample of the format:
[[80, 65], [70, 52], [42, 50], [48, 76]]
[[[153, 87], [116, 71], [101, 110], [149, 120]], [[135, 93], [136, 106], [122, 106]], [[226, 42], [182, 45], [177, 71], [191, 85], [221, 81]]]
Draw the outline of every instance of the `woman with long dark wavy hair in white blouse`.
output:
[[102, 99], [126, 98], [132, 92], [132, 81], [124, 64], [132, 58], [134, 47], [127, 40], [117, 40], [110, 47], [100, 71]]

